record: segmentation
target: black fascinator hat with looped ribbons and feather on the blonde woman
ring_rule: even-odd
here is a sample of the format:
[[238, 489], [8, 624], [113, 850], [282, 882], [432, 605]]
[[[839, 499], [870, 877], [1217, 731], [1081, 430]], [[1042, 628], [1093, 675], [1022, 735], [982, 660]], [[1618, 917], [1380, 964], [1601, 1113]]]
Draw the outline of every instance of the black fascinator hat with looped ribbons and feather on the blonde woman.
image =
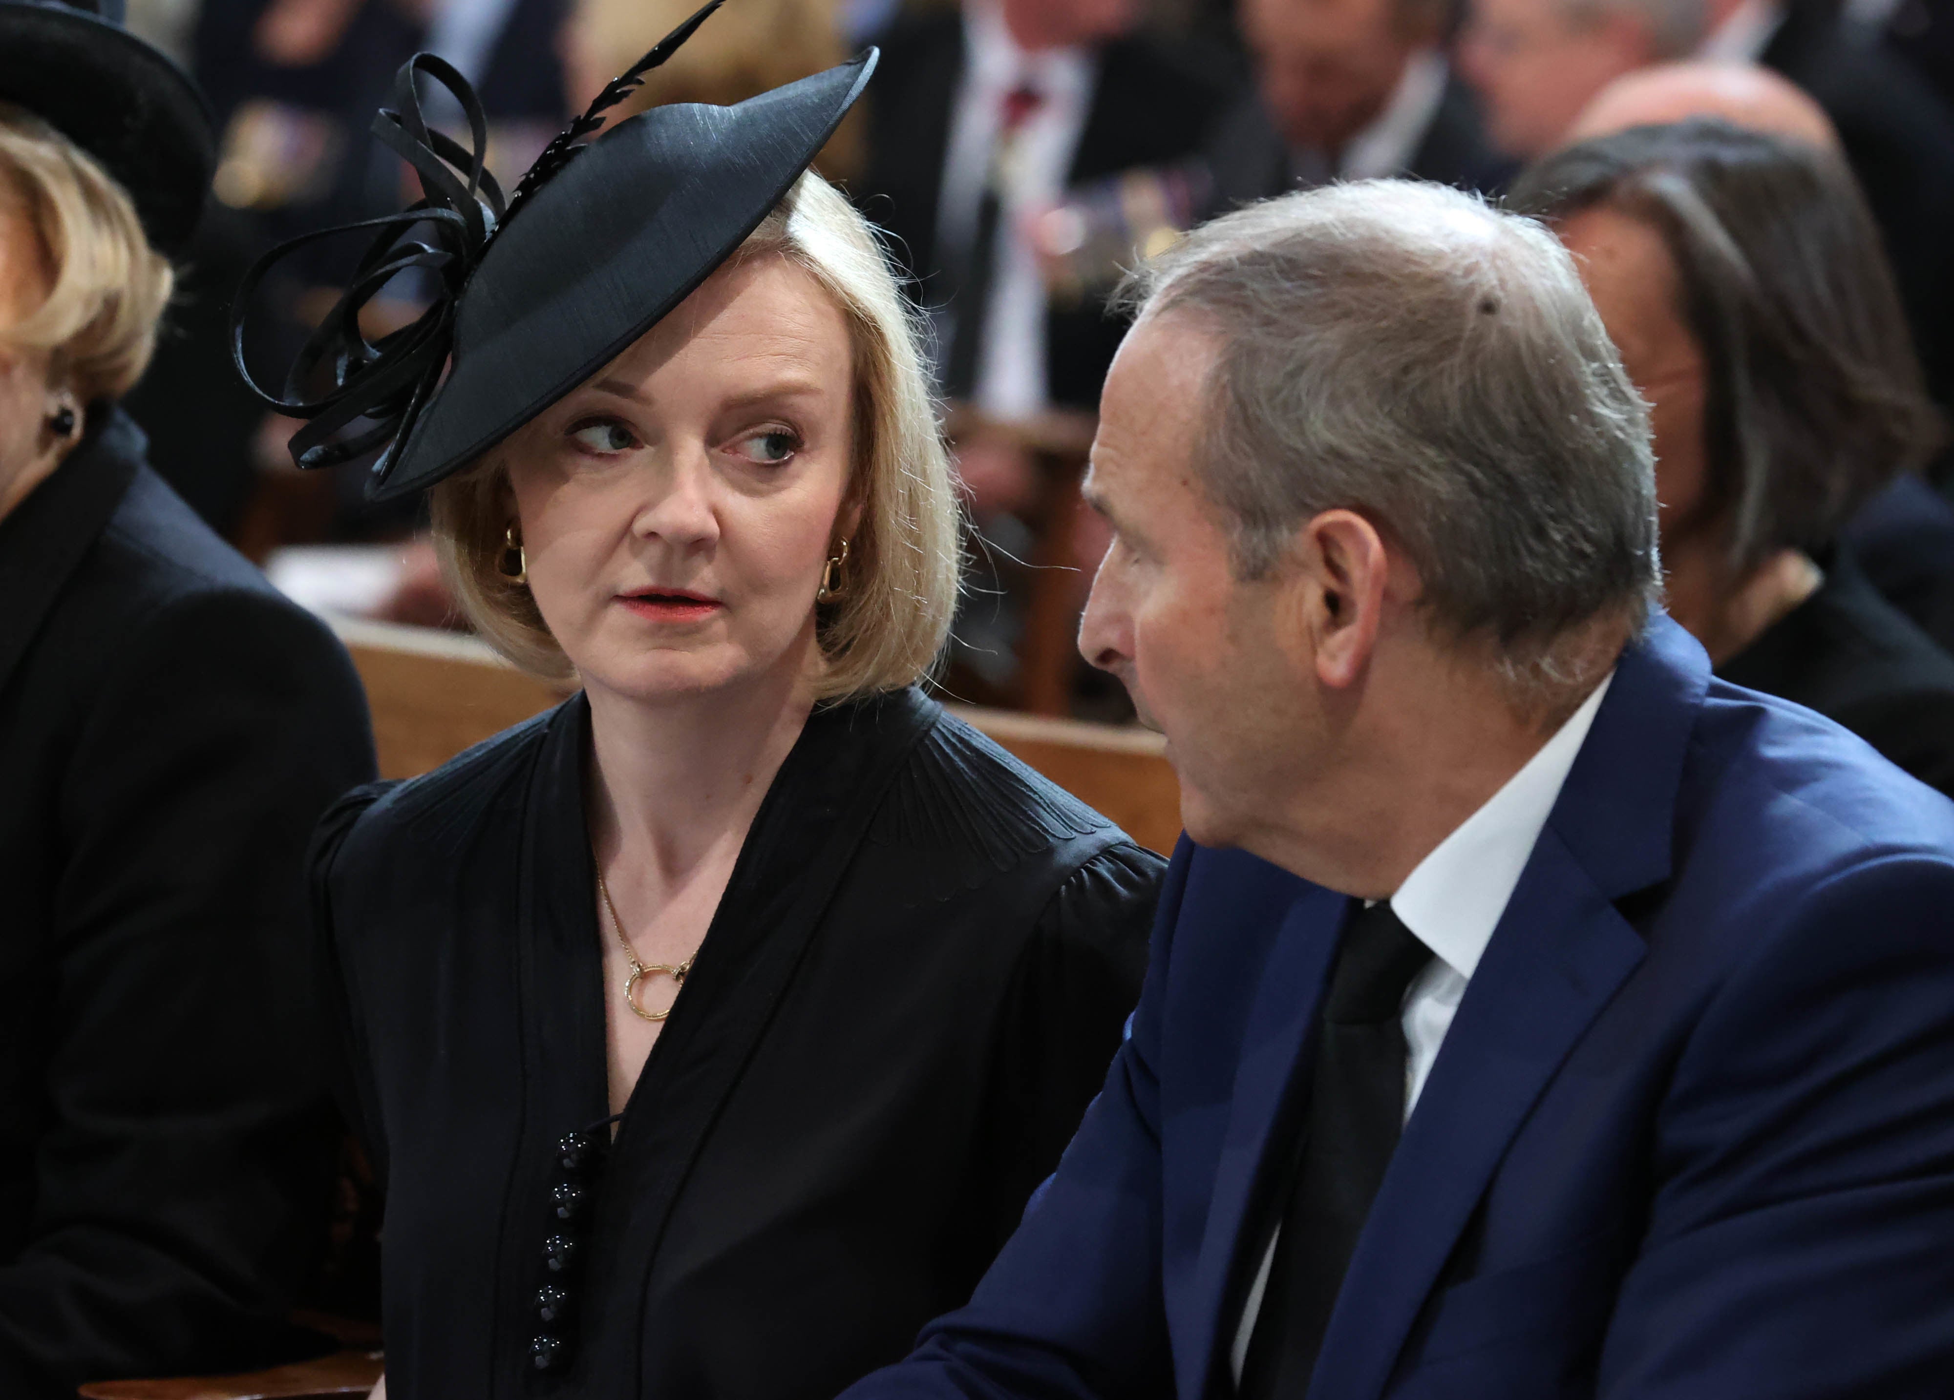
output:
[[[483, 168], [487, 123], [469, 84], [432, 55], [401, 68], [395, 107], [381, 109], [373, 135], [414, 166], [424, 197], [399, 215], [274, 248], [238, 291], [238, 373], [277, 412], [309, 420], [291, 437], [299, 467], [330, 467], [385, 443], [369, 498], [432, 486], [616, 359], [739, 250], [862, 96], [875, 51], [733, 107], [653, 107], [586, 141], [604, 125], [600, 113], [719, 4], [612, 82], [506, 201]], [[426, 125], [416, 74], [461, 103], [473, 150]], [[244, 367], [246, 303], [274, 262], [348, 228], [377, 236], [274, 396]], [[434, 303], [410, 326], [365, 340], [360, 310], [410, 269], [434, 283]], [[320, 383], [328, 387], [311, 392]]]

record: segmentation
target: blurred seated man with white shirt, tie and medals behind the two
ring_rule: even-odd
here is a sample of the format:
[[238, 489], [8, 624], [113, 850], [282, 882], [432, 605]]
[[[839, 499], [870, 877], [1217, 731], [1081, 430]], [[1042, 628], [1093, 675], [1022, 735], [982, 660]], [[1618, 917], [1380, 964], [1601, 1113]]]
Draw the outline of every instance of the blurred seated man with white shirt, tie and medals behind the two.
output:
[[[1036, 549], [1026, 525], [1075, 537], [1084, 578], [1104, 539], [1077, 508], [1049, 510], [1016, 426], [1092, 412], [1120, 346], [1112, 277], [1051, 277], [1034, 228], [1063, 201], [1108, 213], [1131, 262], [1126, 187], [1153, 189], [1196, 160], [1227, 84], [1188, 45], [1139, 33], [1139, 0], [967, 0], [901, 20], [870, 88], [870, 158], [856, 201], [889, 234], [934, 330], [940, 392], [957, 424], [957, 478], [977, 529], [956, 625], [961, 691], [1016, 699]], [[1153, 203], [1153, 201], [1149, 201]], [[1090, 430], [1086, 430], [1086, 435]]]

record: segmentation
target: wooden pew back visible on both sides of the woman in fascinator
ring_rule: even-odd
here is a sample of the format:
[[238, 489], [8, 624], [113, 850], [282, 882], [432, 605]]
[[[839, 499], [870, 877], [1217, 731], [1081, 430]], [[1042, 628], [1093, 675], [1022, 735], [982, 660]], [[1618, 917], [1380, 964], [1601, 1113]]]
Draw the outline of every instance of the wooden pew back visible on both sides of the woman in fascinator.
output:
[[[563, 699], [473, 637], [338, 621], [373, 707], [381, 777], [412, 777]], [[1133, 840], [1170, 851], [1180, 787], [1159, 734], [1016, 711], [950, 707]]]

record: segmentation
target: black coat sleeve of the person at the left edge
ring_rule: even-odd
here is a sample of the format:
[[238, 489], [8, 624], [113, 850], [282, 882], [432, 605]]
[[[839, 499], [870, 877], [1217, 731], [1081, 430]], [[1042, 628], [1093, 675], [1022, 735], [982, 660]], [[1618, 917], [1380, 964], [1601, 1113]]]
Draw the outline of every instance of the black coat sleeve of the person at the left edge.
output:
[[270, 594], [178, 597], [127, 638], [63, 787], [57, 1006], [0, 1394], [289, 1357], [324, 1234], [303, 851], [371, 777], [346, 652]]

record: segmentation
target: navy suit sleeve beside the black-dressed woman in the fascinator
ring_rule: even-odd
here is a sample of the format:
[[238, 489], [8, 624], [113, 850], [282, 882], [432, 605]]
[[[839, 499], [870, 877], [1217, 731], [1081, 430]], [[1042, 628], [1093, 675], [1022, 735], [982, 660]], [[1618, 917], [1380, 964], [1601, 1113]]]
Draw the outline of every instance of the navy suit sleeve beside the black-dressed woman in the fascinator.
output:
[[1161, 1300], [1161, 1093], [1168, 945], [1192, 847], [1167, 869], [1147, 982], [1057, 1174], [977, 1285], [918, 1349], [846, 1400], [1094, 1400], [1172, 1394]]

